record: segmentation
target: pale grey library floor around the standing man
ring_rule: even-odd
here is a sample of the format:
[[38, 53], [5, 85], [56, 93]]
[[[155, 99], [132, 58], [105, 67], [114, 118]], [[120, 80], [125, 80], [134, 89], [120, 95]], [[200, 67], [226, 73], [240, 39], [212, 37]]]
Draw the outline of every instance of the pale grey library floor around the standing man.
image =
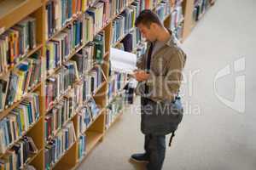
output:
[[[189, 56], [185, 75], [194, 73], [193, 86], [187, 82], [183, 88], [188, 91], [192, 87], [192, 94], [185, 93], [186, 115], [172, 148], [166, 149], [164, 170], [255, 169], [255, 8], [254, 0], [219, 0], [183, 43]], [[244, 71], [234, 72], [237, 59], [241, 63], [245, 59]], [[214, 77], [227, 65], [230, 75], [218, 79], [215, 93]], [[239, 76], [246, 77], [244, 113], [236, 111], [237, 105], [230, 109], [221, 100], [223, 96], [234, 98]], [[132, 153], [143, 151], [140, 116], [134, 114], [135, 109], [136, 105], [131, 105], [125, 111], [79, 170], [140, 169], [129, 161]]]

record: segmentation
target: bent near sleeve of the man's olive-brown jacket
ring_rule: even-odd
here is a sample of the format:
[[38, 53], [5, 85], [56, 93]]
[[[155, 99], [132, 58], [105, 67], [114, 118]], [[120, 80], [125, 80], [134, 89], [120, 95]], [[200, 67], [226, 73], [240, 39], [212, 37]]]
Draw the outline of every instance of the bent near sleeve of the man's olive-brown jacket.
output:
[[151, 71], [150, 77], [147, 81], [149, 87], [149, 98], [154, 101], [172, 100], [177, 94], [182, 79], [183, 68], [186, 61], [186, 54], [180, 48], [174, 48], [171, 54], [168, 54], [168, 61], [166, 61], [166, 74], [156, 76]]

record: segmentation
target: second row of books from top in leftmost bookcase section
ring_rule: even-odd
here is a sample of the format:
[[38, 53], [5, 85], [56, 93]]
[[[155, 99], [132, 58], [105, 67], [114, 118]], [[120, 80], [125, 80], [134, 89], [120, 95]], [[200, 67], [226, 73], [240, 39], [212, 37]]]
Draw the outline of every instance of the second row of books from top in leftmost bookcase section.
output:
[[39, 54], [22, 61], [13, 71], [0, 77], [0, 111], [22, 99], [41, 81]]

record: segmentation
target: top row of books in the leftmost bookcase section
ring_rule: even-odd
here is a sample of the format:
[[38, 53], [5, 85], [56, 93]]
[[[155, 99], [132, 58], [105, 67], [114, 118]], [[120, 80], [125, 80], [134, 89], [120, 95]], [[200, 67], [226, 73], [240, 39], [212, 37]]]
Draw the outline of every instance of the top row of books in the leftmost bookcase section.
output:
[[8, 71], [35, 48], [36, 19], [26, 17], [0, 35], [0, 73]]

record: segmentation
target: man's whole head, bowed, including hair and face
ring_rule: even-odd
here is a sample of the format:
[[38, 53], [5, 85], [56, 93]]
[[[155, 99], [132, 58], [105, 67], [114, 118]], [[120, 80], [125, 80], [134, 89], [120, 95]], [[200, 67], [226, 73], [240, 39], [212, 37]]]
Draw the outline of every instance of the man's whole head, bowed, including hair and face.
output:
[[163, 28], [163, 25], [157, 14], [149, 9], [143, 10], [135, 21], [135, 26], [141, 31], [143, 37], [148, 41], [154, 42]]

